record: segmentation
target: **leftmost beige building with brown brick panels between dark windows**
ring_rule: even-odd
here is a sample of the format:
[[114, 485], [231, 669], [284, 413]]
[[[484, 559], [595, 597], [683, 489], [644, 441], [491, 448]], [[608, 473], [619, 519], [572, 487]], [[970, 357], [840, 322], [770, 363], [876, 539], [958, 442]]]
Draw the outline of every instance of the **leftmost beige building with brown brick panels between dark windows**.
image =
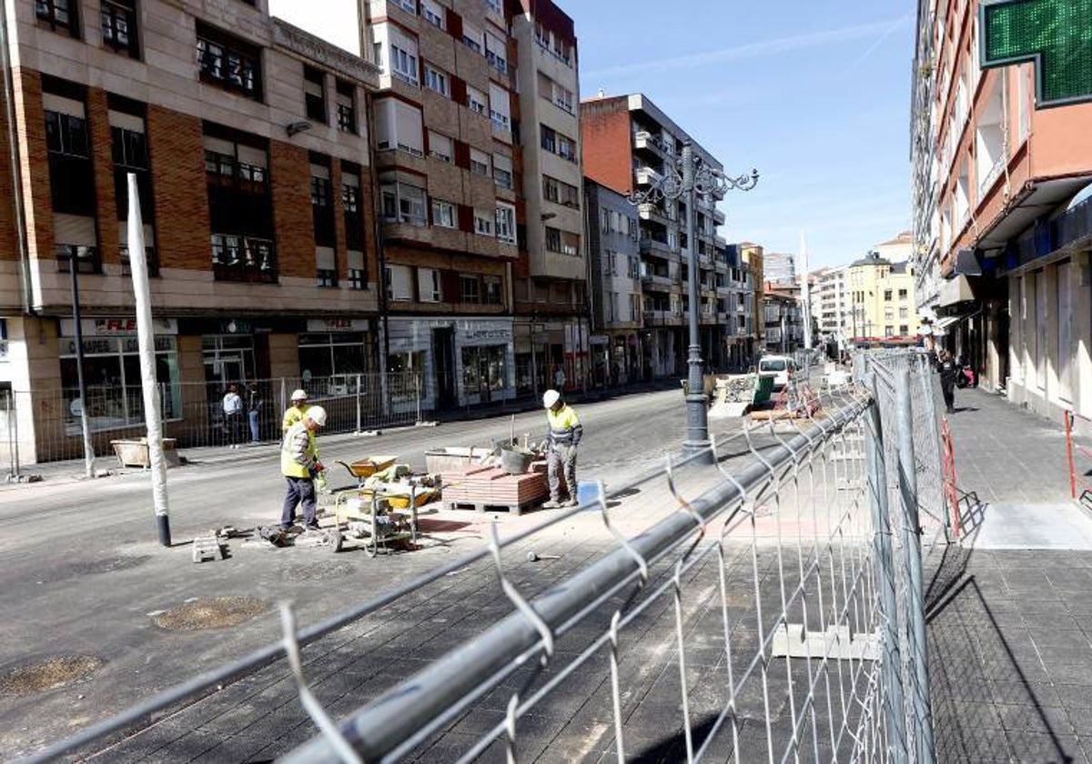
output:
[[129, 172], [171, 432], [205, 429], [229, 382], [304, 377], [323, 395], [376, 368], [375, 67], [272, 19], [265, 0], [41, 0], [4, 12], [12, 118], [0, 183], [15, 203], [0, 205], [0, 383], [28, 396], [24, 462], [46, 442], [51, 457], [80, 453], [81, 408], [98, 450], [143, 427]]

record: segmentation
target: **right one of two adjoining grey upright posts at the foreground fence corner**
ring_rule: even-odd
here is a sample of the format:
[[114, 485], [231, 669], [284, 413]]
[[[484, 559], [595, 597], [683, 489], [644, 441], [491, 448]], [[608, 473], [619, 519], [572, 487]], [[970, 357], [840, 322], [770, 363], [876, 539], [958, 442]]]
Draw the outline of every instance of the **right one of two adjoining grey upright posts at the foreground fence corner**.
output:
[[914, 718], [917, 761], [933, 764], [933, 704], [929, 700], [929, 664], [925, 636], [925, 589], [922, 586], [922, 525], [917, 514], [917, 462], [914, 459], [914, 407], [910, 394], [910, 369], [902, 366], [894, 377], [899, 422], [899, 494], [902, 498], [902, 551], [910, 572], [909, 599], [913, 634]]

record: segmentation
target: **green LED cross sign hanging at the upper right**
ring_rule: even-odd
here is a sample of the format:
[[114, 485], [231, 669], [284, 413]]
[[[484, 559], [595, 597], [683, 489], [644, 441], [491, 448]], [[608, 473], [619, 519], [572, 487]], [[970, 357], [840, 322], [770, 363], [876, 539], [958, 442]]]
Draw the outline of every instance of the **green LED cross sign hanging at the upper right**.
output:
[[983, 0], [982, 68], [1035, 63], [1040, 108], [1092, 100], [1092, 0]]

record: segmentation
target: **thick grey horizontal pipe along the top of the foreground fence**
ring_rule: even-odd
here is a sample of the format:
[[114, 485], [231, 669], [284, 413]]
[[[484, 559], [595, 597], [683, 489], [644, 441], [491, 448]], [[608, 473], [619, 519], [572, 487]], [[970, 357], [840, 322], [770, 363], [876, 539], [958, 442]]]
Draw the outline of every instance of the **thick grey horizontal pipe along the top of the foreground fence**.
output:
[[[870, 398], [858, 398], [830, 418], [817, 421], [816, 426], [826, 435], [852, 421], [865, 408], [871, 408], [875, 415], [876, 406]], [[808, 439], [796, 434], [784, 445], [764, 452], [763, 457], [773, 469], [778, 469], [788, 463], [794, 453], [810, 449], [814, 442], [814, 437]], [[736, 475], [736, 479], [745, 489], [750, 490], [769, 475], [764, 465], [752, 463]], [[690, 506], [699, 516], [709, 520], [739, 498], [739, 489], [724, 481], [693, 499]], [[632, 539], [630, 544], [641, 557], [653, 559], [689, 538], [696, 526], [697, 521], [692, 515], [677, 512]], [[890, 560], [890, 539], [882, 533], [878, 535], [886, 540]], [[551, 630], [556, 630], [586, 608], [590, 601], [625, 584], [638, 570], [633, 556], [626, 549], [617, 549], [536, 598], [532, 607]], [[891, 586], [893, 602], [893, 582]], [[541, 640], [534, 625], [522, 613], [514, 612], [473, 642], [448, 653], [357, 709], [341, 724], [341, 732], [365, 760], [380, 760], [478, 688], [486, 678], [497, 675], [511, 661], [533, 649]], [[898, 653], [894, 657], [898, 658]], [[282, 761], [336, 762], [337, 755], [327, 739], [318, 737], [289, 752]]]

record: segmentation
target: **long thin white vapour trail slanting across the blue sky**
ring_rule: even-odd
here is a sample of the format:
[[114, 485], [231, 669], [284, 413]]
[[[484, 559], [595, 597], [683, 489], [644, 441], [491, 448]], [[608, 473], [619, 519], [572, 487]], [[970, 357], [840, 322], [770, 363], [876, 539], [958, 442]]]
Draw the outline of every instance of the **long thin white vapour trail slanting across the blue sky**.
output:
[[874, 35], [877, 35], [882, 39], [887, 35], [891, 34], [895, 27], [906, 21], [906, 19], [909, 19], [909, 16], [900, 16], [899, 19], [889, 19], [887, 21], [876, 22], [873, 24], [855, 24], [853, 26], [844, 26], [838, 29], [811, 32], [804, 35], [773, 37], [770, 39], [758, 40], [757, 43], [748, 43], [746, 45], [737, 45], [731, 48], [721, 48], [719, 50], [707, 50], [704, 52], [691, 53], [689, 56], [676, 56], [673, 58], [664, 58], [652, 61], [634, 61], [617, 67], [606, 67], [604, 69], [584, 71], [582, 72], [582, 75], [589, 77], [603, 77], [616, 74], [637, 74], [641, 72], [662, 72], [673, 69], [691, 69], [695, 67], [722, 63], [724, 61], [773, 56], [775, 53], [800, 50], [803, 48], [815, 48], [822, 45], [830, 45], [832, 43], [844, 43], [851, 39], [868, 38]]

